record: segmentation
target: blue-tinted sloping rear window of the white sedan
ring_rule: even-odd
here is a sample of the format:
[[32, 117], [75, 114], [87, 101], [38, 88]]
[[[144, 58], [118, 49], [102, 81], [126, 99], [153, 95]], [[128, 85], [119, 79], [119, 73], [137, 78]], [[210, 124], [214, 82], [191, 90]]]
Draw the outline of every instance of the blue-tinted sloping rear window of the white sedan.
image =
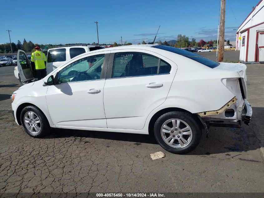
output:
[[204, 64], [210, 68], [215, 68], [220, 64], [220, 63], [212, 61], [208, 58], [205, 58], [204, 56], [201, 56], [199, 54], [192, 53], [192, 52], [189, 52], [187, 50], [183, 50], [183, 49], [179, 49], [179, 48], [174, 48], [174, 47], [165, 46], [165, 45], [155, 45], [155, 46], [152, 46], [152, 48], [158, 48], [158, 49], [163, 49], [163, 50], [166, 50], [169, 52], [177, 53], [179, 55], [182, 55], [182, 56], [185, 56], [185, 57], [190, 58], [192, 60], [195, 60], [198, 63], [202, 63], [202, 64]]

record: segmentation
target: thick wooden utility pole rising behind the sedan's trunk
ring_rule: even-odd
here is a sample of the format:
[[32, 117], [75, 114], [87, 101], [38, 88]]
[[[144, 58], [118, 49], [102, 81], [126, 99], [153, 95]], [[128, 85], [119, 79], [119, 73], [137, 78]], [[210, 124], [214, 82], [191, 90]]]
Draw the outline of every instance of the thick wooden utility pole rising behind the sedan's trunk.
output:
[[221, 0], [220, 11], [220, 37], [219, 37], [219, 56], [218, 62], [224, 59], [224, 46], [225, 46], [225, 16], [226, 16], [226, 0]]

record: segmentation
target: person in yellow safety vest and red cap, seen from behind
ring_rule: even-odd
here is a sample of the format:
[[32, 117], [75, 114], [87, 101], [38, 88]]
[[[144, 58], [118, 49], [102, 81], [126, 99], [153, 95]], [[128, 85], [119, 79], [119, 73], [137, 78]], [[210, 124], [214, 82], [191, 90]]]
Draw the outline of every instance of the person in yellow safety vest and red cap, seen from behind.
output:
[[46, 72], [46, 61], [47, 58], [43, 52], [40, 51], [40, 47], [35, 47], [36, 51], [31, 54], [31, 64], [35, 64], [37, 71], [37, 79], [40, 80], [47, 75]]

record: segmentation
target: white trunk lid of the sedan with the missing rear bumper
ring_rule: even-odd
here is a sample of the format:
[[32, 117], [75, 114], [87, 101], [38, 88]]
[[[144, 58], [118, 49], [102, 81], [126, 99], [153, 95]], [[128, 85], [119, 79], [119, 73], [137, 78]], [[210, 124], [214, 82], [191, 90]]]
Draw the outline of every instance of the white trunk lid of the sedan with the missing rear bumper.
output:
[[246, 75], [247, 66], [245, 64], [221, 62], [214, 69], [237, 72], [238, 75], [241, 77], [241, 80], [239, 80], [241, 93], [243, 95], [243, 98], [247, 99], [247, 75]]

